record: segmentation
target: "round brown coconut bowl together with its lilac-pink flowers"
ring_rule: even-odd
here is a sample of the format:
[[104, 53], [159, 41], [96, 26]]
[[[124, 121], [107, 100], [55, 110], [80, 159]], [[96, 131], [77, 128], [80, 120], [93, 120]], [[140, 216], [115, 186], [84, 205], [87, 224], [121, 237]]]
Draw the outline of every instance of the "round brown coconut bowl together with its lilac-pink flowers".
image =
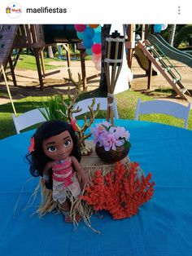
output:
[[95, 152], [103, 161], [114, 163], [122, 160], [129, 153], [129, 131], [124, 127], [111, 126], [108, 121], [96, 124], [91, 129], [94, 137]]

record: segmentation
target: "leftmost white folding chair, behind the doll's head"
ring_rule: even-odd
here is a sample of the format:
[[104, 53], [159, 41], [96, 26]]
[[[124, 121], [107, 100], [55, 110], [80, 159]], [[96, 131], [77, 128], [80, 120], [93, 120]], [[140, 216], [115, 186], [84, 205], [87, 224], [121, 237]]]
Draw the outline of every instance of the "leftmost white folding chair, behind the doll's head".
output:
[[[43, 108], [41, 109], [43, 110]], [[12, 113], [12, 118], [17, 134], [20, 134], [20, 130], [24, 130], [25, 128], [36, 125], [42, 121], [46, 121], [46, 118], [38, 108], [25, 112], [19, 117], [16, 117], [15, 114]]]

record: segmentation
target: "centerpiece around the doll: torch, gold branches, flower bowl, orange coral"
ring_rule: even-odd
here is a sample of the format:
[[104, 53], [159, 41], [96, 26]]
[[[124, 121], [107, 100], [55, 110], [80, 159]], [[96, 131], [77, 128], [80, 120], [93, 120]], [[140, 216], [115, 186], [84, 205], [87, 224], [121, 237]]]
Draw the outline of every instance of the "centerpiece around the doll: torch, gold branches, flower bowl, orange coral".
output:
[[[140, 206], [149, 201], [154, 192], [155, 183], [150, 182], [151, 174], [145, 177], [139, 165], [129, 160], [128, 153], [131, 147], [129, 130], [125, 130], [122, 126], [114, 126], [112, 104], [116, 81], [122, 67], [123, 44], [124, 38], [118, 32], [112, 33], [111, 37], [107, 38], [105, 59], [108, 90], [107, 121], [96, 124], [91, 128], [91, 132], [87, 131], [94, 124], [94, 119], [100, 109], [99, 104], [96, 109], [94, 108], [95, 99], [93, 99], [89, 106], [89, 118], [84, 116], [84, 120], [81, 122], [82, 126], [76, 122], [74, 113], [81, 112], [81, 109], [76, 107], [76, 99], [81, 95], [81, 77], [79, 75], [79, 81], [76, 82], [72, 78], [70, 69], [68, 70], [68, 81], [76, 86], [76, 92], [72, 93], [68, 88], [68, 100], [65, 99], [65, 95], [59, 94], [58, 106], [62, 105], [63, 108], [55, 111], [55, 113], [61, 114], [63, 120], [68, 120], [73, 130], [76, 130], [83, 156], [81, 165], [89, 180], [92, 180], [89, 186], [86, 186], [82, 182], [81, 176], [76, 175], [81, 187], [81, 194], [70, 199], [69, 216], [73, 223], [78, 221], [76, 216], [81, 216], [94, 232], [98, 231], [91, 225], [92, 214], [100, 210], [107, 210], [114, 219], [129, 218], [137, 214]], [[49, 111], [50, 109], [47, 108], [47, 113]], [[91, 135], [93, 135], [95, 143], [95, 152], [93, 144], [85, 143], [85, 140]], [[95, 156], [95, 153], [102, 161]], [[41, 188], [41, 205], [37, 209], [37, 213], [43, 215], [49, 212], [62, 212], [61, 205], [53, 200], [51, 189], [46, 188], [42, 180], [33, 196], [37, 196], [39, 188]]]

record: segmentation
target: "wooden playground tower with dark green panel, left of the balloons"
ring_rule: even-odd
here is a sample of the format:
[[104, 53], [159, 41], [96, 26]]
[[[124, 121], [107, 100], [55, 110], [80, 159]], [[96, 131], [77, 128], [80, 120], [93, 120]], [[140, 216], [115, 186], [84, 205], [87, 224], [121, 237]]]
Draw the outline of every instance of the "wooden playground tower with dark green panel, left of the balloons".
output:
[[[35, 55], [37, 64], [37, 73], [41, 90], [43, 90], [43, 77], [50, 74], [46, 73], [46, 68], [43, 59], [43, 49], [46, 46], [54, 45], [57, 42], [62, 42], [67, 51], [68, 67], [70, 66], [70, 53], [68, 51], [68, 43], [76, 42], [79, 46], [81, 55], [81, 73], [83, 89], [86, 88], [86, 73], [85, 73], [85, 49], [81, 45], [81, 40], [77, 38], [76, 31], [73, 25], [40, 25], [40, 24], [3, 24], [0, 26], [0, 74], [2, 68], [6, 70], [7, 65], [11, 69], [11, 76], [14, 86], [17, 86], [15, 78], [15, 66], [19, 60], [20, 53], [23, 48], [32, 49]], [[11, 57], [13, 49], [16, 49], [14, 59]]]

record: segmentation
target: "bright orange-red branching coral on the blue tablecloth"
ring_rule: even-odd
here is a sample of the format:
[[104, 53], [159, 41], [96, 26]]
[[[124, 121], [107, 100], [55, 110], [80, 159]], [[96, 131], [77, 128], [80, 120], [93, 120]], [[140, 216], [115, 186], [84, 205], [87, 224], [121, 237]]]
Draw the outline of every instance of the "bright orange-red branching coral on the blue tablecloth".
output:
[[92, 179], [94, 186], [85, 188], [81, 198], [94, 210], [108, 210], [115, 219], [137, 214], [139, 207], [151, 199], [155, 183], [150, 183], [151, 174], [138, 177], [136, 162], [129, 167], [128, 170], [118, 162], [115, 171], [104, 177], [97, 170]]

